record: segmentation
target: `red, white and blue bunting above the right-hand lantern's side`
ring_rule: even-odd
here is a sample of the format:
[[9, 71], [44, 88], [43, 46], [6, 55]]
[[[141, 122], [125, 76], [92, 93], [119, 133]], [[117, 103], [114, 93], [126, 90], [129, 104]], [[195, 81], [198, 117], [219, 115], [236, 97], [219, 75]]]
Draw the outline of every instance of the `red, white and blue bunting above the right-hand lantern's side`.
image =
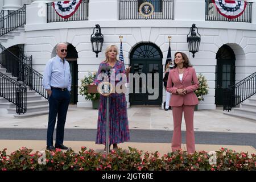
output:
[[228, 19], [241, 16], [246, 8], [246, 2], [243, 0], [212, 0], [218, 13]]

